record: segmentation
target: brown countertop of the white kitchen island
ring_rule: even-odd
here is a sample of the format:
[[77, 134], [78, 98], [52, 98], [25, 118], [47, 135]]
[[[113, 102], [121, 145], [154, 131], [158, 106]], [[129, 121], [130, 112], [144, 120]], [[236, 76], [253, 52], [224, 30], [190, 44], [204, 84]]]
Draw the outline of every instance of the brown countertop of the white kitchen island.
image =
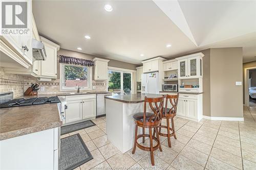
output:
[[159, 98], [163, 95], [161, 94], [126, 94], [126, 95], [112, 95], [105, 96], [105, 99], [110, 99], [123, 103], [141, 103], [144, 102], [144, 98]]

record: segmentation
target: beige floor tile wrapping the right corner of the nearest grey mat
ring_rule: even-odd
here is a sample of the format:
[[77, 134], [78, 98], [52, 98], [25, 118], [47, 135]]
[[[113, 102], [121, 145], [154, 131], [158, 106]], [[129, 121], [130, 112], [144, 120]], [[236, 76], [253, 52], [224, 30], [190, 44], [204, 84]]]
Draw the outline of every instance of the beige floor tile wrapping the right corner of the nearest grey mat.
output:
[[95, 167], [96, 165], [100, 164], [101, 162], [105, 161], [104, 157], [101, 155], [99, 150], [94, 150], [91, 152], [91, 154], [93, 156], [93, 159], [80, 165], [81, 170], [91, 169], [91, 168]]

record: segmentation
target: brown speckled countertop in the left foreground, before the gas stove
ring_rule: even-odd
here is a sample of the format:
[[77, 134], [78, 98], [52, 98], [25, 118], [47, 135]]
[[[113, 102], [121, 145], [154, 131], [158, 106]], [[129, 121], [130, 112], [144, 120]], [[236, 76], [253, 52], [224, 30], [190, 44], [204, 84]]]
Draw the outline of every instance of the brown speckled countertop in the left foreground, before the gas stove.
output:
[[60, 127], [57, 104], [0, 109], [0, 140]]

